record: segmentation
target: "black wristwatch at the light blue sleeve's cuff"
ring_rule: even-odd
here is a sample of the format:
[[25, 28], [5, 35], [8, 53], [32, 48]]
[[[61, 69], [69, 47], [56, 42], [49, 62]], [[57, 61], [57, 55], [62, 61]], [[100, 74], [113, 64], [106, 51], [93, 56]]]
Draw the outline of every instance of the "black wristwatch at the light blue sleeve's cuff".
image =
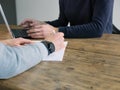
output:
[[45, 40], [45, 41], [41, 41], [41, 43], [43, 43], [45, 45], [45, 47], [47, 48], [48, 55], [55, 51], [55, 45], [52, 42]]

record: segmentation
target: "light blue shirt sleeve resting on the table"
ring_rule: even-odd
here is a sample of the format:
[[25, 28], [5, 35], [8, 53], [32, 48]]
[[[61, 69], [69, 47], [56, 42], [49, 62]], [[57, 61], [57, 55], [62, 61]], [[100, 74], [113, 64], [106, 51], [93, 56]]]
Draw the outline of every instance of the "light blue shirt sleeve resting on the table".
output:
[[0, 79], [8, 79], [30, 69], [47, 55], [46, 47], [40, 42], [20, 47], [0, 43]]

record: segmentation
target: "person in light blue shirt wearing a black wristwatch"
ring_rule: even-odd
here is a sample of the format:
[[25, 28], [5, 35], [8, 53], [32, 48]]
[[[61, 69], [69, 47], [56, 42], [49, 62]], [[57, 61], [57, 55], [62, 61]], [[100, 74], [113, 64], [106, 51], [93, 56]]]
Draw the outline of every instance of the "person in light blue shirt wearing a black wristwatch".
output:
[[0, 41], [0, 79], [16, 76], [40, 63], [48, 54], [63, 48], [63, 36], [63, 33], [57, 33], [36, 43], [23, 38]]

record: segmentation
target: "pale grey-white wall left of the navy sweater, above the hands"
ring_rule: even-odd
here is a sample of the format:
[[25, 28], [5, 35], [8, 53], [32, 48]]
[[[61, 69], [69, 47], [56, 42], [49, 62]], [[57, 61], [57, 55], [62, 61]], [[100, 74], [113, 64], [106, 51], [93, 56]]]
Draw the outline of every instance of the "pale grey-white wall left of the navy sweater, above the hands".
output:
[[17, 23], [25, 18], [41, 21], [57, 19], [59, 15], [58, 0], [16, 0]]

